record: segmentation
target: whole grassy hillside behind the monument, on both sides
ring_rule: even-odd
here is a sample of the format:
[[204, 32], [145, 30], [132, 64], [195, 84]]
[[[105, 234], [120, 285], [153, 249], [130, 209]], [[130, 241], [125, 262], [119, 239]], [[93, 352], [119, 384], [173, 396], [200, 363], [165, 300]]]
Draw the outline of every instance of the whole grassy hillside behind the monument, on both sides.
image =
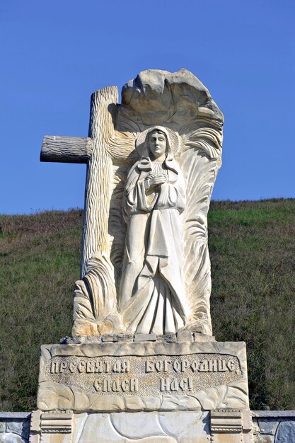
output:
[[[35, 408], [40, 345], [71, 334], [82, 211], [0, 216], [0, 410]], [[212, 202], [216, 340], [244, 340], [252, 409], [294, 409], [295, 200]]]

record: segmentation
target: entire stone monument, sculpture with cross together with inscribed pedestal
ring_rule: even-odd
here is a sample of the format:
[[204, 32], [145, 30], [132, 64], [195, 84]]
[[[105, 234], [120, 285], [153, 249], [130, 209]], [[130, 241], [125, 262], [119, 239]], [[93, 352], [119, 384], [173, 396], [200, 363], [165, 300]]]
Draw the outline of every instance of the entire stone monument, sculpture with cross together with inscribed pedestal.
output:
[[223, 122], [190, 71], [147, 70], [122, 103], [93, 93], [89, 137], [45, 137], [41, 161], [87, 177], [72, 335], [42, 346], [31, 442], [251, 441], [245, 344], [210, 318]]

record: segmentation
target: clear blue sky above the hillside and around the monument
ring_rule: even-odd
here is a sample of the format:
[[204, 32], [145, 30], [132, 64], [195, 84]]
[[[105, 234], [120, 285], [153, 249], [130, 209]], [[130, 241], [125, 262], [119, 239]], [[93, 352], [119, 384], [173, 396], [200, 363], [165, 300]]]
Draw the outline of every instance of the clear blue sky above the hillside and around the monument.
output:
[[40, 163], [86, 137], [91, 93], [185, 67], [224, 113], [215, 200], [295, 197], [294, 0], [1, 0], [0, 213], [83, 207], [86, 165]]

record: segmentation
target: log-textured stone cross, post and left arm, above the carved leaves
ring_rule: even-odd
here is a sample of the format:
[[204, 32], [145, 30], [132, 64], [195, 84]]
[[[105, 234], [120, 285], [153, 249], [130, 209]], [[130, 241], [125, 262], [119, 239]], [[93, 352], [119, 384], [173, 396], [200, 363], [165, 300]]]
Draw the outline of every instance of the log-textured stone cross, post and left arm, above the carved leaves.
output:
[[116, 86], [99, 89], [91, 96], [88, 137], [45, 136], [42, 142], [41, 161], [87, 164], [81, 278], [87, 261], [108, 251], [110, 183], [106, 182], [112, 167], [110, 134], [114, 133], [112, 116], [117, 102]]

